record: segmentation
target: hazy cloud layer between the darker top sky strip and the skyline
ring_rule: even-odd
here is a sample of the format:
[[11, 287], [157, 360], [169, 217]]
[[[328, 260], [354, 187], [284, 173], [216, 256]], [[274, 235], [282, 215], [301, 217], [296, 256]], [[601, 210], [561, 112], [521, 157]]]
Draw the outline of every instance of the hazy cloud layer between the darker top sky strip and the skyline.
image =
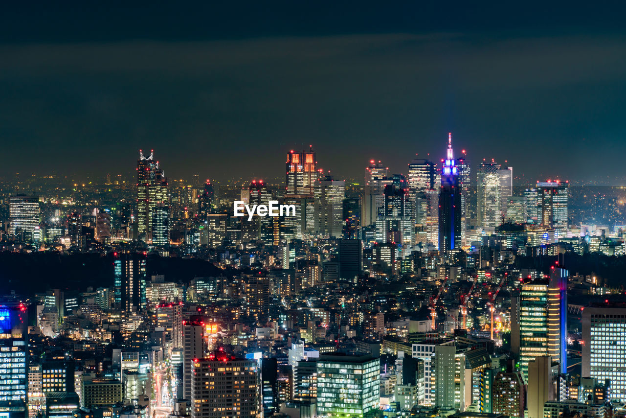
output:
[[[130, 173], [155, 149], [168, 175], [280, 175], [313, 144], [360, 177], [441, 157], [516, 174], [623, 175], [626, 54], [618, 34], [282, 36], [0, 46], [0, 175]], [[584, 140], [583, 140], [584, 138]], [[610, 153], [608, 152], [610, 150]]]

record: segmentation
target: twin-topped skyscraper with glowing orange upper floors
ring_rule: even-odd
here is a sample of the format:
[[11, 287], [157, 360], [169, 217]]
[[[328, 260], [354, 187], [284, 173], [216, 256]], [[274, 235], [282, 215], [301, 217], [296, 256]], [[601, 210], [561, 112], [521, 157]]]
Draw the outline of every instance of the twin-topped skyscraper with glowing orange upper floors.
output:
[[287, 187], [285, 197], [313, 197], [313, 186], [317, 181], [317, 161], [313, 146], [308, 150], [287, 154]]

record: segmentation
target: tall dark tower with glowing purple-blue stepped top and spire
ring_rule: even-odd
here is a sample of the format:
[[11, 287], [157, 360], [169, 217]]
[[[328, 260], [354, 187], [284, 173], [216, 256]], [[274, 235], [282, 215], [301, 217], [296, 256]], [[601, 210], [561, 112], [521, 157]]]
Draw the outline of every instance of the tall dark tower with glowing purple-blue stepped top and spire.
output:
[[439, 189], [439, 252], [461, 249], [461, 185], [452, 150], [452, 133], [448, 134], [448, 152], [441, 167]]

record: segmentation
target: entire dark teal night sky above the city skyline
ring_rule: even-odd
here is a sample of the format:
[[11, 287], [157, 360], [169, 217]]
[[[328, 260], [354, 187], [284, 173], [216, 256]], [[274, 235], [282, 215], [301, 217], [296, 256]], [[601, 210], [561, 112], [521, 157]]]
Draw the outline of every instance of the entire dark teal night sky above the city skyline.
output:
[[0, 177], [131, 175], [140, 148], [172, 178], [279, 176], [309, 144], [361, 177], [448, 132], [530, 180], [626, 175], [625, 2], [8, 3]]

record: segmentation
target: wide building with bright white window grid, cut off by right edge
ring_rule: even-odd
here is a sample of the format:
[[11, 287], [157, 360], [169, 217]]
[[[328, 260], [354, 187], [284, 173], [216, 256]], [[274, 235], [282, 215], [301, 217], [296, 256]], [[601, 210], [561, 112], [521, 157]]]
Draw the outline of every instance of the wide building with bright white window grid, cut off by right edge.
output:
[[581, 376], [608, 379], [611, 399], [626, 402], [626, 304], [585, 306], [582, 330]]

